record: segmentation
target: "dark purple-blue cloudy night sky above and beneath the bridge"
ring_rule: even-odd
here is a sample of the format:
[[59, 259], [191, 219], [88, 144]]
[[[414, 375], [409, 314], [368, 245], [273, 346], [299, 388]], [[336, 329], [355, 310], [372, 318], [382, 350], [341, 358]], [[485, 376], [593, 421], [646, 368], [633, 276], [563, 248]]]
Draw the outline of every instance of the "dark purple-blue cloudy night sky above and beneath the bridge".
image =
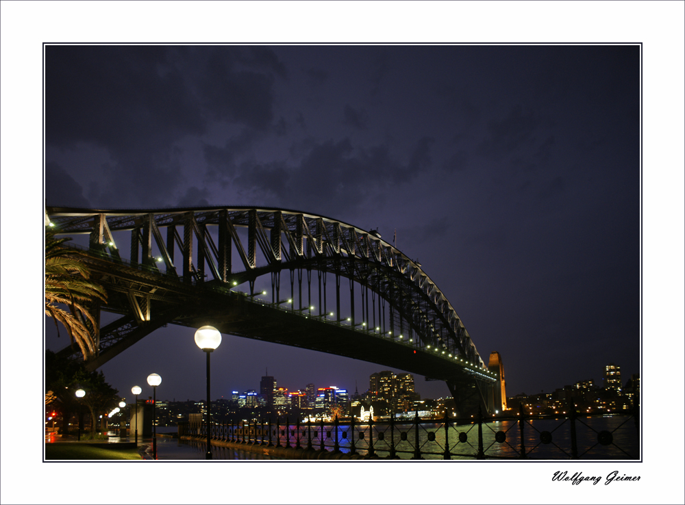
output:
[[[639, 84], [637, 45], [49, 45], [45, 198], [397, 229], [509, 395], [601, 385], [610, 362], [639, 372]], [[203, 360], [169, 327], [101, 370], [123, 396], [157, 372], [163, 398], [200, 399]], [[213, 363], [216, 396], [267, 368], [363, 393], [385, 368], [229, 336]]]

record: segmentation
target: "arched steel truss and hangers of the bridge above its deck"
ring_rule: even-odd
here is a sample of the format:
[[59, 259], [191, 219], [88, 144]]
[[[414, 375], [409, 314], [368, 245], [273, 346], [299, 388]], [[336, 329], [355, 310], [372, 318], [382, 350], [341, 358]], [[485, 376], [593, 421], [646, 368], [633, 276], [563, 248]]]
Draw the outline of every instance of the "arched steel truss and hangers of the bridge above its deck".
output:
[[[46, 220], [59, 235], [88, 235], [93, 258], [140, 274], [128, 280], [122, 275], [106, 286], [121, 291], [127, 307], [110, 307], [125, 317], [118, 326], [100, 332], [101, 350], [127, 332], [145, 333], [140, 327], [155, 326], [149, 324], [155, 320], [153, 300], [183, 298], [195, 287], [238, 289], [240, 285], [249, 285], [245, 296], [254, 300], [262, 296], [255, 290], [256, 281], [269, 276], [271, 293], [264, 298], [271, 297], [273, 307], [289, 307], [293, 313], [432, 352], [477, 380], [493, 382], [445, 295], [419, 263], [377, 232], [324, 216], [263, 207], [144, 211], [48, 207]], [[129, 251], [127, 258], [121, 250]], [[106, 270], [102, 268], [105, 276]], [[331, 302], [327, 279], [335, 279]], [[315, 303], [312, 284], [314, 296], [319, 297]], [[156, 320], [158, 325], [165, 321], [171, 319]]]

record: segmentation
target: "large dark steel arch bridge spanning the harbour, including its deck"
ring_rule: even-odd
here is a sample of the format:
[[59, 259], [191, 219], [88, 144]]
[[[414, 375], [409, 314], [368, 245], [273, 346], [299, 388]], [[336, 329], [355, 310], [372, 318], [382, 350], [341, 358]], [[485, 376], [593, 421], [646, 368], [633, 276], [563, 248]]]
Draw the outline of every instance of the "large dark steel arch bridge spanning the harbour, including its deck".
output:
[[[57, 235], [88, 235], [80, 247], [108, 292], [92, 309], [98, 322], [100, 310], [120, 315], [91, 328], [90, 370], [166, 324], [212, 324], [445, 380], [462, 414], [493, 410], [498, 378], [456, 311], [421, 264], [376, 231], [264, 207], [47, 207], [46, 224]], [[256, 289], [265, 283], [270, 292]]]

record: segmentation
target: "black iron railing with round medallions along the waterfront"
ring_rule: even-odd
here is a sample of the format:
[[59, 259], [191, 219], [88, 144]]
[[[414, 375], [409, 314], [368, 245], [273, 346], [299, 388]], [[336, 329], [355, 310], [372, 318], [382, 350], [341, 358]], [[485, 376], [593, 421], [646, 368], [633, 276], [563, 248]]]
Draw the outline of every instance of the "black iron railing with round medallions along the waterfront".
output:
[[[574, 409], [564, 417], [527, 415], [489, 419], [412, 419], [388, 422], [290, 424], [260, 419], [242, 424], [210, 426], [212, 440], [360, 454], [393, 459], [626, 459], [640, 456], [638, 409], [623, 415], [580, 416]], [[179, 436], [206, 439], [203, 424], [188, 424]]]

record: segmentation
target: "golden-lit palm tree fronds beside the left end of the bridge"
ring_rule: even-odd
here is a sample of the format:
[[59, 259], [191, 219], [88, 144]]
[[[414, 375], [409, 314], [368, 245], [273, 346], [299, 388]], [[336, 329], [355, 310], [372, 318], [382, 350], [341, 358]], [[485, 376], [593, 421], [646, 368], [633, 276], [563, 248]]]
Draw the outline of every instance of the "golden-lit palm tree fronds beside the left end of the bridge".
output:
[[[95, 339], [84, 318], [95, 328], [97, 322], [86, 305], [95, 300], [105, 301], [107, 294], [98, 283], [89, 281], [90, 269], [84, 254], [62, 247], [69, 238], [55, 239], [55, 233], [45, 229], [45, 315], [55, 320], [58, 335], [62, 323], [69, 333], [71, 344], [76, 341], [84, 360], [95, 356]], [[69, 312], [58, 307], [66, 305]]]

